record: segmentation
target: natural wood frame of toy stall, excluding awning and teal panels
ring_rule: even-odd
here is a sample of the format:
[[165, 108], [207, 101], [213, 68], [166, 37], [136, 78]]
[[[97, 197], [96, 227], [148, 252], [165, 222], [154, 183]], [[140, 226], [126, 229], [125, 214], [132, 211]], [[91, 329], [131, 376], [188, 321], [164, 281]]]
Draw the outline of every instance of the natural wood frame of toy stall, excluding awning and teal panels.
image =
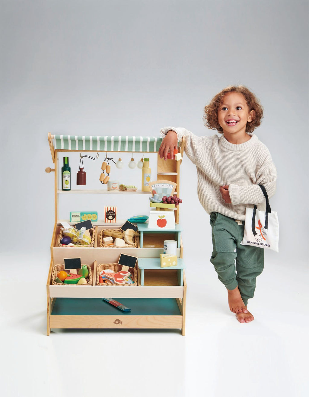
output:
[[[183, 272], [183, 285], [147, 285], [147, 286], [99, 286], [96, 285], [96, 269], [99, 263], [104, 263], [109, 256], [112, 260], [112, 255], [118, 255], [121, 249], [110, 249], [101, 248], [98, 246], [98, 226], [95, 227], [95, 245], [93, 248], [63, 248], [57, 247], [57, 228], [59, 228], [58, 220], [58, 208], [59, 208], [59, 192], [58, 192], [58, 152], [105, 152], [106, 150], [68, 150], [68, 149], [55, 149], [53, 144], [54, 135], [48, 133], [48, 143], [50, 152], [52, 155], [52, 162], [54, 168], [46, 168], [46, 172], [54, 172], [54, 215], [55, 224], [52, 233], [52, 241], [50, 246], [50, 268], [48, 272], [48, 279], [46, 284], [47, 292], [47, 335], [50, 335], [52, 328], [180, 328], [182, 335], [185, 335], [185, 303], [186, 303], [186, 291], [187, 283], [185, 279], [185, 272]], [[185, 145], [184, 139], [180, 142], [178, 148], [179, 152], [183, 155], [183, 148]], [[108, 152], [119, 152], [118, 150], [108, 150]], [[124, 152], [124, 151], [121, 151]], [[135, 150], [135, 152], [138, 152]], [[180, 161], [176, 160], [163, 160], [158, 155], [158, 171], [157, 179], [168, 179], [177, 183], [177, 194], [180, 195]], [[68, 192], [69, 193], [69, 192]], [[79, 193], [74, 192], [74, 193]], [[81, 192], [80, 192], [81, 193]], [[96, 191], [83, 191], [82, 193], [97, 193]], [[104, 192], [101, 192], [104, 193]], [[129, 193], [129, 192], [128, 192]], [[145, 192], [138, 192], [139, 194], [145, 194]], [[70, 194], [70, 193], [69, 193]], [[121, 192], [121, 194], [126, 194]], [[130, 193], [129, 193], [130, 194]], [[149, 194], [149, 193], [146, 193]], [[179, 206], [175, 210], [175, 222], [179, 223]], [[110, 227], [110, 225], [104, 225]], [[64, 251], [62, 251], [64, 250]], [[69, 250], [69, 251], [68, 251]], [[86, 264], [93, 263], [93, 282], [92, 285], [85, 285], [79, 287], [52, 285], [52, 268], [54, 264], [59, 263], [60, 258], [66, 256], [66, 254], [72, 255], [73, 250], [75, 254], [82, 256], [82, 262]], [[112, 250], [112, 251], [111, 251]], [[135, 249], [138, 250], [139, 257], [158, 257], [162, 253], [162, 249], [158, 248], [140, 248], [139, 242]], [[113, 254], [112, 254], [113, 252]], [[126, 251], [127, 252], [127, 251]], [[180, 236], [180, 248], [177, 249], [178, 257], [183, 257], [183, 245]], [[75, 255], [74, 254], [74, 255]], [[110, 262], [112, 263], [112, 262]], [[167, 280], [168, 283], [168, 280]], [[172, 298], [176, 299], [178, 304], [180, 315], [178, 316], [151, 316], [151, 315], [138, 315], [138, 316], [123, 316], [121, 311], [117, 318], [121, 322], [121, 327], [118, 324], [111, 323], [110, 315], [52, 315], [52, 310], [56, 299], [58, 298], [102, 298], [102, 297], [127, 297], [127, 298]]]

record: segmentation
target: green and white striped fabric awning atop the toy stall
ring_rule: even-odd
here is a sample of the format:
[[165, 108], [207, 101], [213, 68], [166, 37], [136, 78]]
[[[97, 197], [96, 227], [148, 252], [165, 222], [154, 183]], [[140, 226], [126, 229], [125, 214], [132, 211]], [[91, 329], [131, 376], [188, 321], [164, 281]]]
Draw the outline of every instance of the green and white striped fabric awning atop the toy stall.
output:
[[161, 137], [87, 137], [85, 135], [54, 135], [55, 149], [62, 150], [157, 152], [161, 143]]

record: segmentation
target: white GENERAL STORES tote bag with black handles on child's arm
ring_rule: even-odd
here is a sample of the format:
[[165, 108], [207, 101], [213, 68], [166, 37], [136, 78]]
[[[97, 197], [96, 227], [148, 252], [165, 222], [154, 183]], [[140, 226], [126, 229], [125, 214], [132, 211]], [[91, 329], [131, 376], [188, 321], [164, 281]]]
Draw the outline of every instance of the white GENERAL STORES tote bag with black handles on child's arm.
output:
[[242, 245], [253, 245], [279, 252], [279, 222], [277, 213], [270, 209], [268, 195], [263, 185], [261, 187], [266, 198], [266, 211], [259, 211], [257, 206], [246, 208], [245, 233]]

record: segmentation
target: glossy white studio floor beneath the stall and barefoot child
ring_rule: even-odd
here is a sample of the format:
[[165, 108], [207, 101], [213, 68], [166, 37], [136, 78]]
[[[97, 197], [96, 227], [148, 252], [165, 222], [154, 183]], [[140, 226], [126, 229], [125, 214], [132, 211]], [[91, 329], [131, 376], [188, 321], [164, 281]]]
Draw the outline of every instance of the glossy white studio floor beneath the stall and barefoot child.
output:
[[[48, 263], [47, 256], [2, 262], [2, 395], [308, 395], [305, 263], [268, 262], [249, 301], [250, 324], [229, 311], [209, 263], [186, 272], [185, 337], [178, 330], [54, 330], [47, 337]], [[205, 278], [196, 278], [202, 270]]]

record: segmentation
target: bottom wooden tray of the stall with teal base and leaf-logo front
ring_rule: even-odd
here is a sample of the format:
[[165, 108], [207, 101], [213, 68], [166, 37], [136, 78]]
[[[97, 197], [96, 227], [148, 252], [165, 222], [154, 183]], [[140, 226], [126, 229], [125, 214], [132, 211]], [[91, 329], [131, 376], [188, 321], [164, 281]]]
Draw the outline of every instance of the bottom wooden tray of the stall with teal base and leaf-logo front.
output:
[[183, 311], [180, 310], [177, 299], [119, 299], [131, 309], [130, 312], [122, 312], [102, 301], [102, 298], [57, 298], [50, 315], [50, 327], [96, 329], [184, 327]]

